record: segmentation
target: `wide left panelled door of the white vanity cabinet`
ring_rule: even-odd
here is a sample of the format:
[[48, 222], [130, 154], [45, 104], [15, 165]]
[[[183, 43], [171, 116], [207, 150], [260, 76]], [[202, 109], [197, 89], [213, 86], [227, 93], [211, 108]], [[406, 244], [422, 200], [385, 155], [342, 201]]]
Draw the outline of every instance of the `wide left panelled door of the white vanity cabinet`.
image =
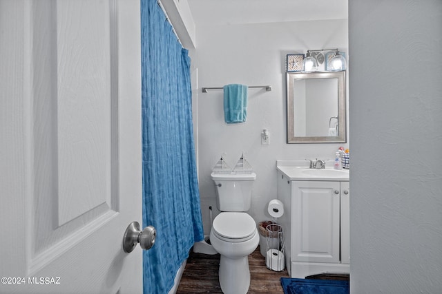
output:
[[296, 262], [340, 262], [339, 182], [292, 183], [295, 218], [291, 259]]

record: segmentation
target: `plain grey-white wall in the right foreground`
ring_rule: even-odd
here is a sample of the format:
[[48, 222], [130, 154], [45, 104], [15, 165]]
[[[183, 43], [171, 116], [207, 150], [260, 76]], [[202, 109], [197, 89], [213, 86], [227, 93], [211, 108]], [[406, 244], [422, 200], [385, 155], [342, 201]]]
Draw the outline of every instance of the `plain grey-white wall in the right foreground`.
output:
[[442, 1], [349, 1], [352, 293], [442, 293]]

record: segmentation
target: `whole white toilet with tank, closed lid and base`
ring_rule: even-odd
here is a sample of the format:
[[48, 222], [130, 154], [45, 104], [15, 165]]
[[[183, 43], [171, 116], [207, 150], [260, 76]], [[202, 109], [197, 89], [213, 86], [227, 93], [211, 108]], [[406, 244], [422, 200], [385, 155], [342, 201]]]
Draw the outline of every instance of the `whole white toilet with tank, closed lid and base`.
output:
[[216, 205], [222, 211], [213, 220], [210, 240], [221, 255], [220, 286], [225, 294], [245, 294], [250, 286], [248, 255], [260, 241], [255, 220], [245, 211], [251, 205], [251, 187], [256, 179], [250, 174], [215, 174]]

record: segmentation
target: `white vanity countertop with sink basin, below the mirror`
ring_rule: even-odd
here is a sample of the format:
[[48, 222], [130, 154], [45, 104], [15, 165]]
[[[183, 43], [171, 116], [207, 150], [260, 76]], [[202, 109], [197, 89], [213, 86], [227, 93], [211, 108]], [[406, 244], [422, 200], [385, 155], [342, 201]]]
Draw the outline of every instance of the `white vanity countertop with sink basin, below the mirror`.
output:
[[326, 160], [325, 169], [310, 169], [308, 160], [276, 160], [276, 169], [290, 180], [348, 181], [349, 170], [333, 169], [333, 163], [333, 160]]

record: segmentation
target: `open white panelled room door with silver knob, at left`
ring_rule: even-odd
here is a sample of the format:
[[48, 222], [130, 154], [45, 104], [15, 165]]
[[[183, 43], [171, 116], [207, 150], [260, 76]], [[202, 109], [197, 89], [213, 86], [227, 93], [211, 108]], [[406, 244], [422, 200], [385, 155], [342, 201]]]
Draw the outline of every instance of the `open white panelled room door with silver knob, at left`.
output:
[[0, 0], [0, 293], [142, 293], [140, 0]]

